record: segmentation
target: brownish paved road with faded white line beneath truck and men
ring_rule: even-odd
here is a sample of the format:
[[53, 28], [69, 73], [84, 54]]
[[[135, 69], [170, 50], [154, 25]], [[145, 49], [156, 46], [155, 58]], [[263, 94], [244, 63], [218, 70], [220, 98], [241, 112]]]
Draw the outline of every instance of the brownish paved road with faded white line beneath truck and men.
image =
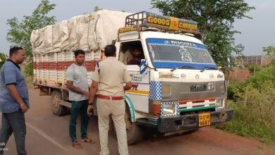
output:
[[[36, 90], [30, 90], [31, 109], [26, 113], [27, 139], [26, 147], [29, 155], [44, 154], [99, 154], [99, 135], [97, 118], [91, 118], [88, 137], [96, 144], [82, 144], [83, 149], [71, 147], [68, 136], [70, 116], [57, 117], [51, 113], [50, 97], [39, 97]], [[1, 116], [0, 116], [1, 117]], [[77, 135], [80, 136], [78, 122]], [[117, 142], [109, 136], [111, 154], [118, 154]], [[13, 139], [8, 141], [6, 155], [16, 154]], [[130, 154], [275, 154], [275, 147], [266, 146], [255, 139], [238, 137], [221, 130], [202, 128], [190, 135], [170, 137], [154, 137], [147, 135], [142, 142], [129, 147]]]

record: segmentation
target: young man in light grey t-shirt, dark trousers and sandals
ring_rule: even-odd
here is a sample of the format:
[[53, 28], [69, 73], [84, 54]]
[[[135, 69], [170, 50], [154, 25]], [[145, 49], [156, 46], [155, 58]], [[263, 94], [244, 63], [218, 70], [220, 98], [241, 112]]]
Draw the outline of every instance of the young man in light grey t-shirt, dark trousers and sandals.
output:
[[72, 104], [69, 132], [73, 147], [76, 149], [82, 149], [82, 145], [78, 142], [75, 135], [75, 125], [78, 113], [80, 113], [81, 116], [81, 141], [94, 143], [87, 137], [87, 125], [89, 121], [89, 116], [87, 116], [87, 104], [89, 89], [87, 83], [87, 69], [84, 66], [84, 61], [85, 52], [80, 49], [75, 51], [75, 63], [71, 64], [66, 72], [69, 100]]

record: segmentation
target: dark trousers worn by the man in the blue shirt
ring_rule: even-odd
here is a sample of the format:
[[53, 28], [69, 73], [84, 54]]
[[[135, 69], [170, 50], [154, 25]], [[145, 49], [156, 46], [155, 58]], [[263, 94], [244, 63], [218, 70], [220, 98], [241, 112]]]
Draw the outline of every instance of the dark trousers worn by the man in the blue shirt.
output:
[[26, 124], [25, 115], [21, 111], [2, 114], [2, 126], [0, 130], [0, 154], [4, 154], [4, 148], [8, 138], [13, 133], [16, 140], [18, 154], [27, 154], [25, 150]]

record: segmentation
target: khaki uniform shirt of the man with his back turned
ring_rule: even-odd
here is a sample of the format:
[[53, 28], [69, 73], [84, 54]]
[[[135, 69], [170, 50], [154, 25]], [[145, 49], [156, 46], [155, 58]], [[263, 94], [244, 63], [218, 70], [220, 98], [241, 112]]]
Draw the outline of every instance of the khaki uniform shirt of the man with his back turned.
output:
[[92, 73], [92, 80], [99, 82], [97, 94], [123, 97], [124, 83], [131, 81], [126, 66], [113, 56], [109, 56], [99, 62], [99, 70], [98, 73], [98, 67], [96, 67]]

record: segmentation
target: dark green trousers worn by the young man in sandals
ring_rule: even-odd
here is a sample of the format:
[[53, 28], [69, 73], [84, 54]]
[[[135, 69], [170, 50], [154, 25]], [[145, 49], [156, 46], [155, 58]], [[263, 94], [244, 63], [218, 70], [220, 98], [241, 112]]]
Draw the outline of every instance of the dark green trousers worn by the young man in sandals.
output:
[[71, 101], [72, 107], [71, 107], [71, 120], [70, 120], [70, 126], [69, 126], [69, 132], [72, 142], [76, 141], [76, 135], [75, 135], [75, 125], [76, 120], [78, 118], [78, 113], [80, 113], [81, 116], [81, 138], [85, 139], [87, 137], [87, 126], [89, 121], [89, 116], [87, 115], [87, 106], [88, 106], [88, 100], [83, 101]]

